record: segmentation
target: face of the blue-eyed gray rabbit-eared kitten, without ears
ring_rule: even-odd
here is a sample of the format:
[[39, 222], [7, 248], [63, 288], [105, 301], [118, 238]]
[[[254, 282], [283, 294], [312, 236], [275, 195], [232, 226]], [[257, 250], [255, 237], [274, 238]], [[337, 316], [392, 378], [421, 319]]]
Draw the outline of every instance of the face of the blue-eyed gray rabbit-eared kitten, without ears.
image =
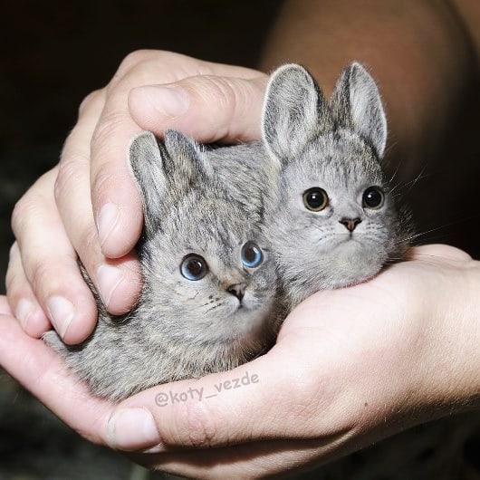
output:
[[165, 219], [143, 247], [143, 302], [162, 312], [150, 339], [201, 345], [262, 338], [272, 317], [274, 259], [249, 220], [233, 200], [213, 202], [197, 192]]

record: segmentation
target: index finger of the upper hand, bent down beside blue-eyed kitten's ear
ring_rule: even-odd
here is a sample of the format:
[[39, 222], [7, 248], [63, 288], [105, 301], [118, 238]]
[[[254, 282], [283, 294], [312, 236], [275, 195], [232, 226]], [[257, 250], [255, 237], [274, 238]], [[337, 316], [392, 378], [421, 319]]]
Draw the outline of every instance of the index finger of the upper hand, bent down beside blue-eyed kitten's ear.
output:
[[91, 141], [93, 213], [101, 250], [110, 258], [118, 258], [133, 248], [142, 225], [141, 202], [130, 175], [127, 147], [130, 139], [143, 128], [130, 115], [130, 90], [142, 84], [176, 82], [197, 74], [252, 78], [258, 72], [201, 62], [178, 53], [139, 51], [126, 57], [110, 82], [105, 106]]

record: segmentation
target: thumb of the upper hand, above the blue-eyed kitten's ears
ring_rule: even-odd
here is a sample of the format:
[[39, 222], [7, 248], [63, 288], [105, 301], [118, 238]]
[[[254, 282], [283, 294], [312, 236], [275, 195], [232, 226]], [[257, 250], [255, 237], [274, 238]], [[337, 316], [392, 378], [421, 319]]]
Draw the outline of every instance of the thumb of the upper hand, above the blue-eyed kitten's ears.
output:
[[199, 75], [137, 87], [130, 91], [130, 114], [160, 136], [174, 129], [202, 142], [259, 139], [267, 79]]

